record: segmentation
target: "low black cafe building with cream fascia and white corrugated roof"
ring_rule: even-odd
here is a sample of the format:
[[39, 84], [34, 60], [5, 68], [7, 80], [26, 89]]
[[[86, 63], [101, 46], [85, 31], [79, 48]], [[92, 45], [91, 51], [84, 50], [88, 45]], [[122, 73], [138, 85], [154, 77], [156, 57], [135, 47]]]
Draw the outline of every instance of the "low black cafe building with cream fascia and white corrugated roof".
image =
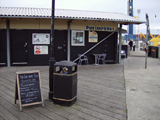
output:
[[[117, 63], [122, 25], [141, 23], [121, 13], [55, 9], [54, 58], [78, 62], [85, 53], [94, 64], [93, 54], [105, 53], [106, 63]], [[0, 7], [0, 66], [49, 65], [50, 30], [51, 9]]]

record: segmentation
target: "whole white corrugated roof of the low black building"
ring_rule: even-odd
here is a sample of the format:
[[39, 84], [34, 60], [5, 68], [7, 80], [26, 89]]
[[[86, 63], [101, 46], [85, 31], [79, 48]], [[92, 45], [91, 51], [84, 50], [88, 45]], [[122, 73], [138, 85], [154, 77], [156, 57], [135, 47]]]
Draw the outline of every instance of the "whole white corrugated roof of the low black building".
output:
[[[38, 18], [51, 19], [51, 9], [49, 8], [19, 8], [19, 7], [0, 7], [0, 18]], [[124, 25], [142, 24], [141, 21], [134, 17], [121, 14], [109, 13], [100, 11], [85, 11], [85, 10], [68, 10], [55, 9], [55, 19], [66, 20], [95, 20], [116, 22]]]

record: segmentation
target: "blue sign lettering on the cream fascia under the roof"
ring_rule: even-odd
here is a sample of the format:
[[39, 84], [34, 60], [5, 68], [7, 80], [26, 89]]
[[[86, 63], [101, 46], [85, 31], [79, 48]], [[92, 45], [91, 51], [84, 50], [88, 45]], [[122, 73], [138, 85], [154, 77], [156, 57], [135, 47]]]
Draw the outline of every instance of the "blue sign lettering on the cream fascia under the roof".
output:
[[98, 26], [86, 26], [86, 30], [106, 30], [106, 31], [112, 31], [114, 30], [114, 27], [98, 27]]

